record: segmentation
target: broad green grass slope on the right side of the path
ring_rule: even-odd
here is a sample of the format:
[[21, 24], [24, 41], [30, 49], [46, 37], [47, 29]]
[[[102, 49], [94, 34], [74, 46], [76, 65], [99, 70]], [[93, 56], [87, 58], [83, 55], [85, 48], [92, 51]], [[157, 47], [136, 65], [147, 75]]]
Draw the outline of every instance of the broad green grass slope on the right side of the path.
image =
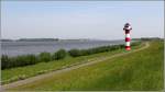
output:
[[163, 49], [163, 42], [150, 42], [150, 47], [141, 51], [54, 74], [10, 90], [161, 91], [164, 87]]

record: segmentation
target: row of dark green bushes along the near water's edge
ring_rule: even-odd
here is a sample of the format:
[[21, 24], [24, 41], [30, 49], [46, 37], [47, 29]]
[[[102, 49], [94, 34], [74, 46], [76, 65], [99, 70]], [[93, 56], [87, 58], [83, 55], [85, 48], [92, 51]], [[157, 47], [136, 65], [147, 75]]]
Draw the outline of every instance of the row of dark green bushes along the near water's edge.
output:
[[[133, 43], [132, 46], [140, 45], [140, 42]], [[16, 57], [8, 57], [7, 55], [1, 56], [1, 69], [10, 69], [14, 67], [23, 67], [29, 65], [35, 65], [38, 62], [48, 62], [64, 59], [67, 55], [72, 57], [87, 56], [98, 53], [112, 51], [116, 49], [124, 48], [124, 45], [111, 45], [101, 46], [88, 49], [70, 49], [66, 51], [65, 49], [59, 49], [54, 54], [41, 53], [38, 55], [21, 55]]]

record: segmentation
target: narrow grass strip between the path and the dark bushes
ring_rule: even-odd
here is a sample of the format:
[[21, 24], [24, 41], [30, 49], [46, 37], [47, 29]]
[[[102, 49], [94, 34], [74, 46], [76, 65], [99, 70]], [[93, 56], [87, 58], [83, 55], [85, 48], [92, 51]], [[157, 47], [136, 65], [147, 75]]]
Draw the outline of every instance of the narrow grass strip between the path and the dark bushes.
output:
[[[141, 45], [134, 46], [133, 48], [138, 48], [138, 47], [141, 47]], [[124, 51], [124, 48], [116, 49], [112, 51], [88, 55], [88, 56], [80, 56], [80, 57], [70, 57], [69, 55], [67, 55], [66, 58], [61, 60], [54, 60], [48, 62], [44, 61], [32, 66], [4, 69], [1, 71], [2, 83], [4, 84], [18, 80], [23, 80], [30, 77], [34, 77], [36, 74], [46, 73], [54, 70], [59, 70], [63, 68], [80, 65], [84, 62], [92, 61], [103, 56], [111, 56], [121, 51]]]

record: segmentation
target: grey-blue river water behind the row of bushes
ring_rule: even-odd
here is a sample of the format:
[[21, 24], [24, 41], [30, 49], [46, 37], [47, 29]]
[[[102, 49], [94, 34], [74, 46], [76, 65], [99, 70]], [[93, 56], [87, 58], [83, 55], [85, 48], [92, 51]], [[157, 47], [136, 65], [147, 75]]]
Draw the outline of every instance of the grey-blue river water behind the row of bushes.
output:
[[124, 41], [1, 42], [1, 54], [18, 56], [42, 51], [54, 53], [61, 48], [66, 50], [85, 49], [118, 44], [124, 44]]

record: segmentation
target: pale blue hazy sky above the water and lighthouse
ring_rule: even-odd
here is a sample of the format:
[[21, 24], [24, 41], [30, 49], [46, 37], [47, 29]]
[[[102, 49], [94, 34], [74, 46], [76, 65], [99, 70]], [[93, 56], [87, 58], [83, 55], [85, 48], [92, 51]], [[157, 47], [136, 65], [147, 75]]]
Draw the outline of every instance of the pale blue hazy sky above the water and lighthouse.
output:
[[122, 39], [164, 36], [163, 1], [2, 1], [2, 38]]

